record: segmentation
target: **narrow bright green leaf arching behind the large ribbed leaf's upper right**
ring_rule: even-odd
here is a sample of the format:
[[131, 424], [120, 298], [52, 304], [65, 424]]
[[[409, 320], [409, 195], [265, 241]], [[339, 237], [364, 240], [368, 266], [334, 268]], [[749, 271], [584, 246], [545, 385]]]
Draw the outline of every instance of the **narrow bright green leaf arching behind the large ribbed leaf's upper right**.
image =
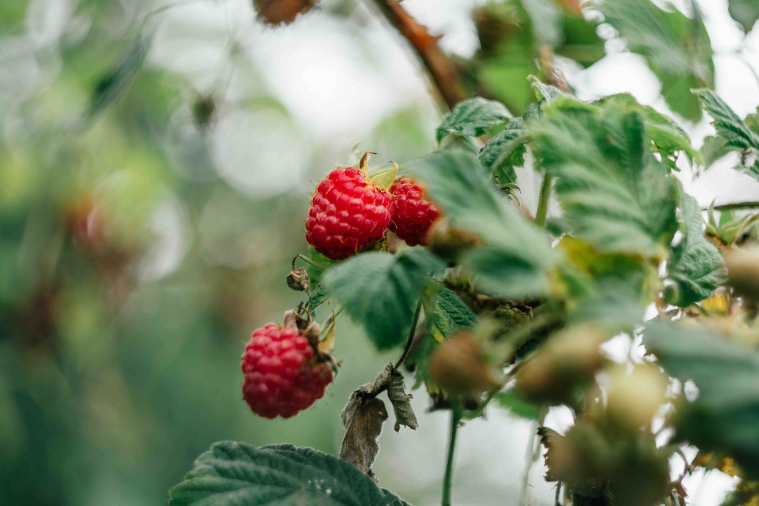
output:
[[662, 161], [670, 168], [676, 168], [677, 154], [685, 152], [688, 159], [693, 162], [701, 161], [701, 155], [691, 144], [691, 137], [669, 116], [663, 115], [653, 107], [641, 105], [634, 96], [629, 93], [619, 93], [607, 96], [595, 102], [599, 105], [615, 103], [627, 107], [631, 111], [640, 112], [646, 121], [646, 133], [657, 151], [662, 156]]

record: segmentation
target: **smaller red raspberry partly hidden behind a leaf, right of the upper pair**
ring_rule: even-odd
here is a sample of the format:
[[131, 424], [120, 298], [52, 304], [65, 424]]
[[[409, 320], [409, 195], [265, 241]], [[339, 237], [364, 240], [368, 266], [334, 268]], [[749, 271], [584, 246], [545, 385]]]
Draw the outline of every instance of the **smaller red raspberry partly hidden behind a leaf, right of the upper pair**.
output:
[[403, 178], [390, 187], [390, 193], [395, 197], [390, 230], [409, 246], [427, 245], [427, 231], [440, 212], [427, 200], [424, 187], [417, 181]]

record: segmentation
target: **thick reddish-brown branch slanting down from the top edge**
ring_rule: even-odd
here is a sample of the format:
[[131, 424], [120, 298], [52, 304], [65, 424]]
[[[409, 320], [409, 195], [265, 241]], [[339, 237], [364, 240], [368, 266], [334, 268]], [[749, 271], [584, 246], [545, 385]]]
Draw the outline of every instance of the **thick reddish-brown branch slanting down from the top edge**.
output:
[[439, 37], [430, 35], [427, 27], [417, 23], [411, 14], [405, 11], [399, 3], [389, 3], [392, 0], [374, 0], [380, 11], [390, 23], [404, 36], [414, 51], [430, 72], [442, 99], [449, 108], [466, 98], [461, 90], [461, 77], [451, 61], [437, 45]]

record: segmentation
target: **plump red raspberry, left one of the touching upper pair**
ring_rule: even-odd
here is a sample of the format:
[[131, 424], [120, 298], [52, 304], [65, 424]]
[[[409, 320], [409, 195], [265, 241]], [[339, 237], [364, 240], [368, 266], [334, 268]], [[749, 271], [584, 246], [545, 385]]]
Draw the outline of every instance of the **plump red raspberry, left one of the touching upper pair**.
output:
[[392, 196], [357, 168], [337, 168], [319, 184], [306, 220], [306, 240], [333, 260], [382, 239], [392, 217]]

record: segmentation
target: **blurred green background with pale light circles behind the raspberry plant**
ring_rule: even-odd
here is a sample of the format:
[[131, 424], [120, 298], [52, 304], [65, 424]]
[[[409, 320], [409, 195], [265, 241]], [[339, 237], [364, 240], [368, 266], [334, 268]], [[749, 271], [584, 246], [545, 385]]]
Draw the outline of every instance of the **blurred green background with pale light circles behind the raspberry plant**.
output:
[[[650, 101], [699, 121], [689, 88], [714, 86], [715, 64], [698, 5], [680, 4], [403, 2], [458, 34], [441, 44], [465, 94], [515, 115], [529, 74], [587, 98], [583, 72], [629, 51], [661, 80]], [[729, 4], [741, 34], [753, 6]], [[335, 454], [348, 395], [395, 357], [342, 322], [324, 401], [279, 421], [241, 401], [248, 335], [303, 299], [284, 281], [312, 182], [359, 140], [383, 162], [430, 152], [443, 110], [370, 4], [324, 0], [276, 29], [255, 17], [247, 0], [0, 2], [0, 504], [160, 504], [223, 439]], [[425, 416], [413, 436], [442, 441]], [[434, 502], [438, 467], [378, 465]]]

